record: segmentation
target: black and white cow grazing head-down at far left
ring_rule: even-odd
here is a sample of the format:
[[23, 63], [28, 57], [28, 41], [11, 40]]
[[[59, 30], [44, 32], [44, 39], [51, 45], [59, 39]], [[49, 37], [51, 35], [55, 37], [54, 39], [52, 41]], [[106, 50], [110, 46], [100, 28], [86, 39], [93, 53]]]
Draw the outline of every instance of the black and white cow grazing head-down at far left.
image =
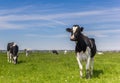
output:
[[14, 42], [8, 43], [8, 45], [7, 45], [8, 62], [10, 62], [10, 63], [13, 62], [14, 64], [17, 63], [18, 50], [19, 50], [19, 47], [16, 43], [14, 43]]

